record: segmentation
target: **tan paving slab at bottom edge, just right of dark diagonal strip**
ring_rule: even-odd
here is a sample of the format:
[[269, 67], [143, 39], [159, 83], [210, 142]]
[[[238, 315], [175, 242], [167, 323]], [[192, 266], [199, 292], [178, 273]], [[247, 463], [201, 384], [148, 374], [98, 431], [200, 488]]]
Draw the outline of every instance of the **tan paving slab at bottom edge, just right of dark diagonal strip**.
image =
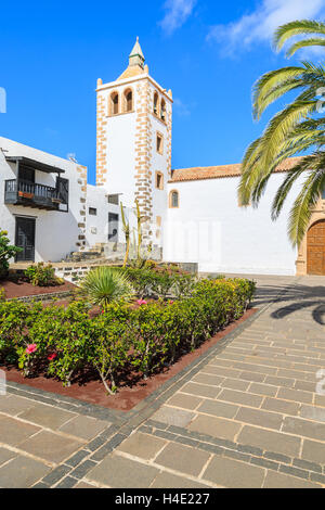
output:
[[107, 456], [87, 474], [87, 480], [112, 488], [147, 488], [159, 471], [118, 455]]

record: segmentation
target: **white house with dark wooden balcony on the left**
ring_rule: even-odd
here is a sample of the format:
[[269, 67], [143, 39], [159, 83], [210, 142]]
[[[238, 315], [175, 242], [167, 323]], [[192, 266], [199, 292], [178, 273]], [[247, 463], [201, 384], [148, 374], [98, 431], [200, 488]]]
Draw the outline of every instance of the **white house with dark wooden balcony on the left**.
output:
[[65, 258], [86, 246], [87, 168], [0, 137], [0, 228], [17, 260]]

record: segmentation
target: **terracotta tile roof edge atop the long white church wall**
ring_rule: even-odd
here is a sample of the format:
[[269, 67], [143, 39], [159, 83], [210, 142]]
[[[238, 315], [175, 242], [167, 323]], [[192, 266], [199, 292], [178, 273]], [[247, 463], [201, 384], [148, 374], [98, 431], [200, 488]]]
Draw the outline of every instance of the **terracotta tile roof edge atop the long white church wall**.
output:
[[[284, 161], [275, 171], [290, 170], [301, 157], [290, 157]], [[204, 179], [221, 179], [223, 177], [238, 177], [240, 176], [242, 165], [239, 163], [234, 165], [221, 166], [199, 166], [195, 168], [179, 168], [172, 170], [171, 179], [169, 182], [182, 182], [190, 180], [204, 180]]]

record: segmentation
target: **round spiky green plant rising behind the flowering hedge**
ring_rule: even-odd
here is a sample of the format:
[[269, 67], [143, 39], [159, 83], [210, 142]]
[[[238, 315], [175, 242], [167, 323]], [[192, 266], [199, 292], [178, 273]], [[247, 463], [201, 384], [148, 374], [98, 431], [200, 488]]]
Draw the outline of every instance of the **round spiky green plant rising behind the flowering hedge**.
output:
[[89, 271], [80, 284], [80, 294], [105, 308], [112, 303], [131, 299], [134, 290], [126, 275], [104, 266]]

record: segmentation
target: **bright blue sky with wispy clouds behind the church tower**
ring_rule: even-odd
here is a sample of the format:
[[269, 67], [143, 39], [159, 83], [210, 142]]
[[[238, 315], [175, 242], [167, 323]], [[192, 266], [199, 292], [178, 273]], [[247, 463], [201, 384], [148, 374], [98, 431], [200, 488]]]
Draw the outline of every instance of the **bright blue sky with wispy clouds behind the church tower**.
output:
[[5, 2], [0, 135], [76, 154], [94, 182], [96, 78], [116, 79], [139, 36], [151, 75], [173, 91], [173, 168], [237, 163], [275, 112], [252, 122], [252, 84], [288, 65], [274, 28], [324, 14], [325, 0]]

